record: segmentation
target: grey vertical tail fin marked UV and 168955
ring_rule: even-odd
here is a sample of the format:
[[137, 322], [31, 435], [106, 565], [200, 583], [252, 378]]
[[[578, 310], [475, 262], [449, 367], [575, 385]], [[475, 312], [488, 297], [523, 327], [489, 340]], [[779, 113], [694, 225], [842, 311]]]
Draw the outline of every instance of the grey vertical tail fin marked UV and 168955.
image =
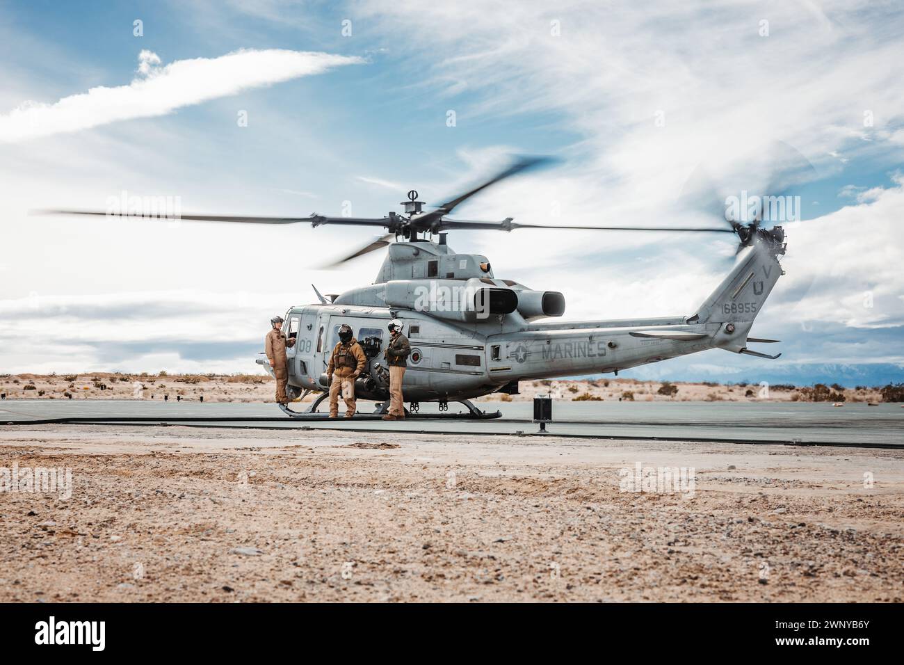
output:
[[740, 353], [759, 310], [782, 275], [776, 253], [768, 242], [754, 238], [738, 265], [688, 319], [694, 323], [719, 323], [716, 346]]

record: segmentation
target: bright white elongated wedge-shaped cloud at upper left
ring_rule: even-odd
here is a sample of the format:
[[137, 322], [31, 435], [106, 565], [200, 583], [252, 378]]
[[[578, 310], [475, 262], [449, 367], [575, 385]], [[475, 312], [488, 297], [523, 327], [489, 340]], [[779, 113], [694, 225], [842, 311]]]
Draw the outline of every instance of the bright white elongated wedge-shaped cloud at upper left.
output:
[[320, 52], [240, 50], [219, 58], [179, 60], [161, 66], [154, 52], [138, 55], [137, 77], [128, 85], [98, 87], [53, 104], [27, 101], [0, 115], [0, 142], [16, 143], [136, 118], [310, 76], [362, 58]]

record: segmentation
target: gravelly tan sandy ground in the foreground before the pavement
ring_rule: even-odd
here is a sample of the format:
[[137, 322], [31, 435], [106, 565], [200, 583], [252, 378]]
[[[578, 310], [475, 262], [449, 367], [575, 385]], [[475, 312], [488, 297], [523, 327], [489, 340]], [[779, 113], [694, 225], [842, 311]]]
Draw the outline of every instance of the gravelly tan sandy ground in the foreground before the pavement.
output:
[[904, 598], [904, 451], [3, 426], [14, 464], [73, 489], [0, 493], [0, 602]]

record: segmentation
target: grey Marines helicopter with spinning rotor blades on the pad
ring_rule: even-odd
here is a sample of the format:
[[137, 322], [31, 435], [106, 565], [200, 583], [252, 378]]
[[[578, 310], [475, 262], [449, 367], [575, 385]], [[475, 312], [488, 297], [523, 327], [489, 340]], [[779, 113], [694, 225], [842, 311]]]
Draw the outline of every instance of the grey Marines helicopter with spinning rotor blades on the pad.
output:
[[[313, 226], [341, 224], [382, 227], [388, 230], [377, 242], [336, 261], [343, 263], [389, 246], [377, 278], [370, 286], [325, 298], [315, 288], [319, 303], [287, 310], [287, 335], [296, 338], [288, 352], [290, 398], [325, 391], [325, 369], [338, 328], [347, 323], [362, 343], [368, 366], [355, 385], [355, 394], [377, 401], [377, 413], [385, 412], [389, 400], [389, 374], [381, 349], [388, 339], [387, 323], [399, 318], [409, 337], [411, 354], [405, 373], [403, 394], [411, 411], [419, 402], [438, 402], [440, 411], [448, 402], [465, 404], [474, 417], [485, 414], [469, 399], [494, 392], [516, 394], [518, 382], [560, 376], [614, 372], [654, 363], [710, 348], [775, 359], [778, 356], [753, 351], [751, 342], [776, 342], [749, 337], [750, 327], [769, 292], [784, 274], [778, 258], [786, 251], [780, 226], [761, 228], [760, 214], [752, 223], [729, 221], [725, 228], [673, 228], [632, 226], [560, 226], [479, 222], [447, 218], [458, 204], [486, 187], [532, 166], [549, 161], [544, 157], [521, 157], [511, 166], [474, 189], [457, 196], [436, 210], [424, 212], [418, 193], [409, 192], [404, 213], [381, 218], [248, 217], [231, 215], [180, 215], [180, 219], [204, 222], [297, 223]], [[56, 214], [96, 214], [87, 211], [48, 211]], [[532, 290], [494, 275], [490, 261], [479, 254], [461, 254], [447, 244], [452, 230], [513, 231], [521, 228], [688, 231], [735, 233], [740, 255], [730, 274], [709, 298], [688, 315], [659, 318], [599, 319], [549, 322], [560, 317], [565, 298], [557, 291]], [[438, 234], [438, 242], [432, 236]], [[399, 240], [401, 238], [401, 240]], [[395, 240], [396, 242], [391, 242]], [[780, 355], [780, 354], [779, 354]], [[257, 359], [271, 374], [267, 362]], [[321, 394], [306, 413], [314, 413], [325, 399]], [[281, 405], [290, 415], [297, 415]]]

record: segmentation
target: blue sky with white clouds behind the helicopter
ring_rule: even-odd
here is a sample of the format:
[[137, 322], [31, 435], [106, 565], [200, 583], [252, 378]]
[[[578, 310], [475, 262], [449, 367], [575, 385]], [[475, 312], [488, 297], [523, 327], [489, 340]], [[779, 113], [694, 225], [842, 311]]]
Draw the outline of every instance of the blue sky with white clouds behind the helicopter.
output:
[[[701, 225], [714, 195], [780, 182], [801, 197], [804, 221], [785, 224], [787, 275], [754, 330], [782, 338], [782, 358], [716, 350], [629, 375], [901, 380], [898, 5], [483, 5], [0, 5], [0, 372], [253, 371], [273, 313], [310, 301], [312, 282], [369, 283], [382, 260], [317, 269], [366, 230], [31, 208], [102, 209], [126, 190], [179, 196], [183, 212], [339, 214], [348, 202], [382, 215], [412, 187], [437, 203], [517, 152], [560, 165], [458, 216]], [[688, 185], [702, 172], [705, 192]], [[561, 290], [575, 319], [690, 313], [733, 252], [708, 235], [450, 242], [488, 255], [497, 276]]]

